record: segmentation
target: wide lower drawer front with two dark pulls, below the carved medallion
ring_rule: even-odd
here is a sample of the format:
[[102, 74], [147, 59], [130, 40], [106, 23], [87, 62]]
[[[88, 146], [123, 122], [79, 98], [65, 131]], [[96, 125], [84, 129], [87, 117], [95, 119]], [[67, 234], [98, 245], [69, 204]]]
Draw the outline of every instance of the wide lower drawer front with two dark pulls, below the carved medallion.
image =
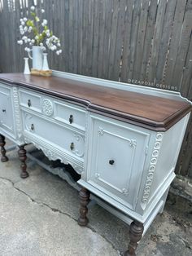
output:
[[46, 143], [51, 143], [72, 157], [83, 159], [85, 151], [84, 135], [63, 127], [55, 122], [47, 121], [30, 113], [22, 112], [24, 131]]

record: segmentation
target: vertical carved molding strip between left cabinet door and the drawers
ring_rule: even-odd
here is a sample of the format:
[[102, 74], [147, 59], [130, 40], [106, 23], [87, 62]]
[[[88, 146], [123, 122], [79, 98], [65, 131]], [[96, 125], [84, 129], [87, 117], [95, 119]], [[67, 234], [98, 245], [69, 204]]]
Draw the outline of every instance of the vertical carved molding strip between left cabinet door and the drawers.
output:
[[19, 139], [22, 139], [22, 121], [20, 117], [20, 101], [17, 87], [13, 86], [13, 102], [15, 111], [15, 128]]

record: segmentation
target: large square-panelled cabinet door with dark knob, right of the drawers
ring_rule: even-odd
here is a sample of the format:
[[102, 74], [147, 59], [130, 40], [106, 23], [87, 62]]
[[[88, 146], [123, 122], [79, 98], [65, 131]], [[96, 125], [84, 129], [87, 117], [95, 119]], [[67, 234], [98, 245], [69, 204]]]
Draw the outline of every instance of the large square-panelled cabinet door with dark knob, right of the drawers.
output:
[[93, 119], [87, 182], [134, 209], [149, 136], [137, 126]]

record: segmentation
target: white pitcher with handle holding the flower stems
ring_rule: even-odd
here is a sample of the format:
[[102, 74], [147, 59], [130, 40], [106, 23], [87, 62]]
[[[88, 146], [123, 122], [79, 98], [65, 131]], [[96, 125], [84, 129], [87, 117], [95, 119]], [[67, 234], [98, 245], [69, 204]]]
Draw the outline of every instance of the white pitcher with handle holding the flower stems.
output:
[[28, 52], [28, 57], [33, 60], [33, 68], [41, 70], [42, 69], [42, 48], [41, 46], [33, 46], [32, 47], [32, 55], [30, 51]]

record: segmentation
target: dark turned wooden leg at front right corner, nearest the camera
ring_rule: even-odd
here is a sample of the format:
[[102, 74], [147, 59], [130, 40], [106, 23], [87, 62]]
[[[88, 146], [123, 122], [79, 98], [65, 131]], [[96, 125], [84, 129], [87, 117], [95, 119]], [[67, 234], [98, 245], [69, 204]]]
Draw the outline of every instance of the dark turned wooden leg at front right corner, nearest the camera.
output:
[[142, 239], [142, 232], [143, 232], [143, 224], [137, 222], [136, 220], [133, 221], [130, 225], [129, 236], [130, 242], [128, 250], [124, 253], [124, 256], [134, 256], [135, 250], [137, 249], [137, 242]]

